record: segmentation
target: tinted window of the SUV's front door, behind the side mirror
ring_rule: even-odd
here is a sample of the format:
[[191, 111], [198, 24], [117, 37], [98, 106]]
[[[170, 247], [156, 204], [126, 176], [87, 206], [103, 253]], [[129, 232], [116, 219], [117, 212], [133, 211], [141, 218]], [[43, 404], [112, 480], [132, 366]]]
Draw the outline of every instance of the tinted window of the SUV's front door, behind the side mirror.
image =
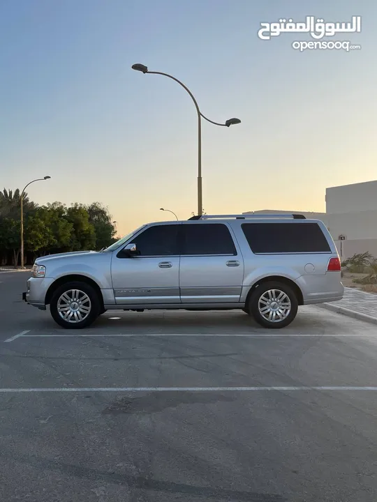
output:
[[168, 256], [178, 254], [177, 236], [180, 225], [149, 227], [132, 239], [141, 256]]

